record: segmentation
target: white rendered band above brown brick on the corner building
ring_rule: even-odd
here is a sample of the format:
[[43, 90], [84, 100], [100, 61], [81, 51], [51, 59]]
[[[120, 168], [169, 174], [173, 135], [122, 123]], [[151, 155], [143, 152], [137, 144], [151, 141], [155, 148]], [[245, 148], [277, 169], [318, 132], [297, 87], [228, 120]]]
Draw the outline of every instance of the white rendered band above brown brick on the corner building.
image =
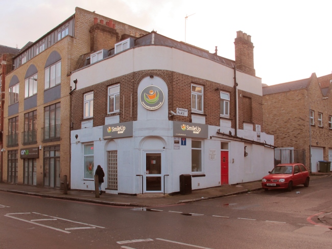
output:
[[[81, 89], [115, 77], [141, 70], [169, 70], [223, 85], [234, 86], [234, 71], [228, 66], [163, 46], [145, 46], [129, 49], [113, 57], [74, 72], [70, 85]], [[263, 96], [262, 79], [236, 71], [238, 89]]]

